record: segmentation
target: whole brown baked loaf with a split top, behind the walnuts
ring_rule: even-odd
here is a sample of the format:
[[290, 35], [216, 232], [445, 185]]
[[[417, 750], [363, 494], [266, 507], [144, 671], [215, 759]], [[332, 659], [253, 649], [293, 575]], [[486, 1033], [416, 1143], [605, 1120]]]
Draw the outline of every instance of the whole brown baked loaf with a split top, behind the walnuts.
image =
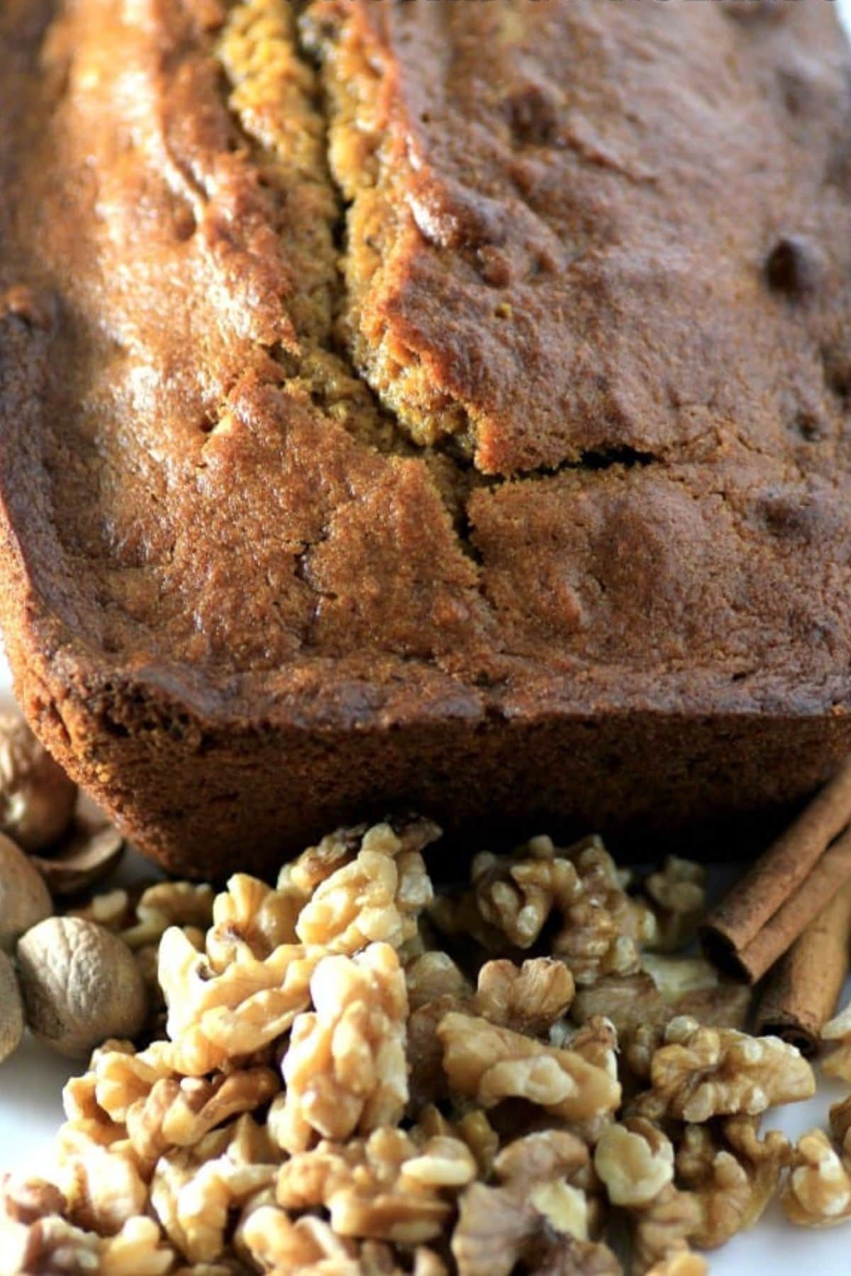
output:
[[676, 826], [851, 748], [832, 5], [6, 0], [0, 47], [5, 639], [145, 850]]

